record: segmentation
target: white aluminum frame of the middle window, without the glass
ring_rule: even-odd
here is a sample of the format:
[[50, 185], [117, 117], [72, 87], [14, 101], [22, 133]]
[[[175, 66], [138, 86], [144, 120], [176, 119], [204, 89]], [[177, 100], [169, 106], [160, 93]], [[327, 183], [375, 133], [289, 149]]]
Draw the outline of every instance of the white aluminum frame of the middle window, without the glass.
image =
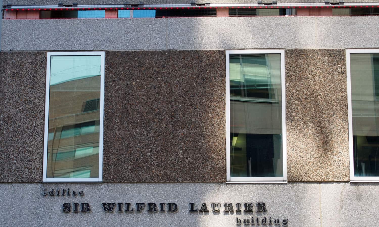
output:
[[[226, 50], [226, 180], [227, 183], [287, 183], [287, 130], [285, 112], [285, 51], [280, 49]], [[282, 91], [283, 177], [230, 177], [230, 54], [280, 54]]]

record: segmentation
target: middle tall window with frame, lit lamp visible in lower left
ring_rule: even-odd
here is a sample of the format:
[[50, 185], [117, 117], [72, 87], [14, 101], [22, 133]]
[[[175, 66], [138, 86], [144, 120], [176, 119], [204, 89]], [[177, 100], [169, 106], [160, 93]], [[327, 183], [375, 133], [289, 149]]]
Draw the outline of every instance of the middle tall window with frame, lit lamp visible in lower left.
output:
[[226, 51], [227, 180], [286, 182], [284, 50]]

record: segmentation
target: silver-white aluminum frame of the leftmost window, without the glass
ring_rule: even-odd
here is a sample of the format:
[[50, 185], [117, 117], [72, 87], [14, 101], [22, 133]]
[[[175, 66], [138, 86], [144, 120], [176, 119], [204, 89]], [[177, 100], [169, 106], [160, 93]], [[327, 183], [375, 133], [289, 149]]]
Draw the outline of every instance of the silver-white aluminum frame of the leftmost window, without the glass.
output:
[[[49, 101], [50, 101], [50, 62], [51, 56], [101, 56], [100, 67], [100, 126], [99, 126], [99, 177], [88, 178], [52, 178], [47, 177], [47, 142], [49, 136]], [[44, 156], [42, 182], [102, 182], [103, 180], [103, 126], [104, 126], [104, 76], [105, 75], [105, 52], [104, 51], [77, 51], [77, 52], [48, 52], [46, 67], [46, 90], [45, 90], [45, 129], [44, 129]]]

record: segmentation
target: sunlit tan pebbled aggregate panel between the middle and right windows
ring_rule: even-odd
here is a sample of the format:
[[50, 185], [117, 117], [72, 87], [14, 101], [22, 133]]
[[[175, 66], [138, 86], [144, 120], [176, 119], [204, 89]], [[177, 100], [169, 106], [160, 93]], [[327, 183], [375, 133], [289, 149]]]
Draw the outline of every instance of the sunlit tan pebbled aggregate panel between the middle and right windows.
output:
[[285, 73], [288, 180], [349, 180], [345, 50], [286, 50]]

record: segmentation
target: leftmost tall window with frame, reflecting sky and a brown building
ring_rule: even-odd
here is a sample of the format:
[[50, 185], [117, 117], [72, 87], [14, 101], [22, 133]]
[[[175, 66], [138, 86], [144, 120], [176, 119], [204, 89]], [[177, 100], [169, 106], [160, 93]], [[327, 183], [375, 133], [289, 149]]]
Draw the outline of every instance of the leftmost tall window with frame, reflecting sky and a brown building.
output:
[[43, 181], [102, 181], [104, 52], [47, 53]]

